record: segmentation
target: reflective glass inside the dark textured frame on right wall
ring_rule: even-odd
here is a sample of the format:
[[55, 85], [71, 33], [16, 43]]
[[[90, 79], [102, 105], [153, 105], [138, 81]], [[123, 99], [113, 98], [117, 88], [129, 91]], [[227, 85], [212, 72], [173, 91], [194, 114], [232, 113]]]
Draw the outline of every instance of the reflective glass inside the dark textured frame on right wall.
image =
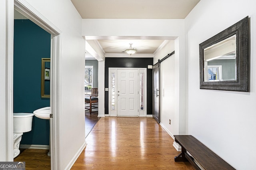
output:
[[236, 80], [236, 35], [204, 49], [204, 81]]

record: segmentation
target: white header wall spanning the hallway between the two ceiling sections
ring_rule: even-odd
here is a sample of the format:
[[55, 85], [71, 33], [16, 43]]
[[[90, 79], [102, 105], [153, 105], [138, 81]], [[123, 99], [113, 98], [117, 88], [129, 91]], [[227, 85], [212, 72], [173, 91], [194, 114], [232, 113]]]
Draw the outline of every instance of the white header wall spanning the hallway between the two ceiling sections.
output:
[[184, 20], [83, 19], [83, 36], [182, 36]]

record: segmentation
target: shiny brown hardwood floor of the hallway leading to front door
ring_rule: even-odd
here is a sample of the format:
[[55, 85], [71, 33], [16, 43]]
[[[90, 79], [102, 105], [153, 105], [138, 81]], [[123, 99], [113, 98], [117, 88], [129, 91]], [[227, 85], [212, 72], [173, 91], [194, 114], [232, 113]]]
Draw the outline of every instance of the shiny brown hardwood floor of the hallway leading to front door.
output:
[[153, 118], [101, 118], [86, 142], [73, 170], [194, 170], [189, 162], [174, 162], [174, 140]]

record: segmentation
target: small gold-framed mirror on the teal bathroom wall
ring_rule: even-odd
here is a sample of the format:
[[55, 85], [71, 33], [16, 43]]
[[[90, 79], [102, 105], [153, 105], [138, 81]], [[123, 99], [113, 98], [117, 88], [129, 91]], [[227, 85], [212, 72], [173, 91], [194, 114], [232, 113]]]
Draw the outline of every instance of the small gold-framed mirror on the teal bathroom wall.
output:
[[50, 97], [50, 58], [42, 58], [41, 97]]

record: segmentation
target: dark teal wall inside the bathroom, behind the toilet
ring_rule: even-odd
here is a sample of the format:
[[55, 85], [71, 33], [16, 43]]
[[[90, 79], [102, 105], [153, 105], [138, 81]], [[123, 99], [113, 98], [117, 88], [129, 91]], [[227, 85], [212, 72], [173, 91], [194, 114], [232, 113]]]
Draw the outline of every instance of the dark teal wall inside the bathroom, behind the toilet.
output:
[[[14, 113], [33, 113], [50, 106], [41, 98], [41, 59], [50, 58], [51, 35], [30, 20], [14, 20]], [[32, 130], [21, 144], [49, 144], [49, 121], [33, 117]]]

